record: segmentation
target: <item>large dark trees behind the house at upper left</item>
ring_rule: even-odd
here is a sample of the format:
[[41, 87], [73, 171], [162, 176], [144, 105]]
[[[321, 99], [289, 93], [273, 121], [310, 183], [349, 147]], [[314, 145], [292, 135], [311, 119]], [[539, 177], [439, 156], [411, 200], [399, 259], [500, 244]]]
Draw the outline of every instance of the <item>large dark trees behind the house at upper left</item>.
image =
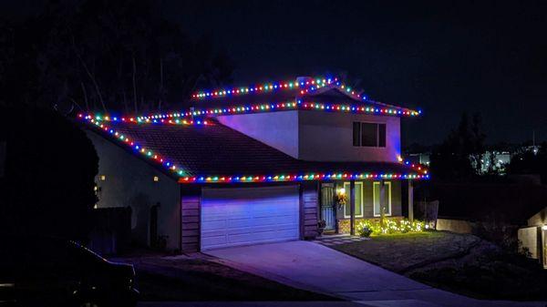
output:
[[0, 77], [0, 100], [13, 104], [144, 113], [189, 107], [198, 83], [231, 81], [231, 59], [207, 37], [186, 36], [150, 0], [50, 2], [2, 29], [0, 71], [9, 77]]

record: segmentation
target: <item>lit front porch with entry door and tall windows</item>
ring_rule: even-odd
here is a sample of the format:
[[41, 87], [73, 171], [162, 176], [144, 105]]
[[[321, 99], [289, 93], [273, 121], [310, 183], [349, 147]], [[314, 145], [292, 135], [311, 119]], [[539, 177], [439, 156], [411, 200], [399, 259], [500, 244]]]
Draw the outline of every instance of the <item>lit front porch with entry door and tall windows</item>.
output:
[[[405, 195], [403, 195], [403, 190]], [[365, 220], [414, 220], [414, 188], [408, 180], [348, 180], [320, 183], [319, 224], [324, 234], [356, 234]], [[403, 214], [403, 205], [408, 210]]]

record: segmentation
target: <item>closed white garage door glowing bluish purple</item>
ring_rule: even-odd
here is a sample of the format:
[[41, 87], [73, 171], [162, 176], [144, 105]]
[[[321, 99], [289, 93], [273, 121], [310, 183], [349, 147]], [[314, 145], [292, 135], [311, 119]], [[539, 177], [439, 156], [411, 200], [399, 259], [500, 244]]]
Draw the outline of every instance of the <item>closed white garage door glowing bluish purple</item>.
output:
[[298, 186], [202, 189], [201, 250], [299, 237]]

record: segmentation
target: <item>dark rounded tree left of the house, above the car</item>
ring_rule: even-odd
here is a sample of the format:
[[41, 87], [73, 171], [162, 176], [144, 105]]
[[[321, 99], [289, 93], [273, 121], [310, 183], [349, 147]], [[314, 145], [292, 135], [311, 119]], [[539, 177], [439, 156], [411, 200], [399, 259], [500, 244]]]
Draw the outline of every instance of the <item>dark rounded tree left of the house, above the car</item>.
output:
[[86, 240], [98, 156], [76, 124], [37, 107], [1, 107], [0, 233]]

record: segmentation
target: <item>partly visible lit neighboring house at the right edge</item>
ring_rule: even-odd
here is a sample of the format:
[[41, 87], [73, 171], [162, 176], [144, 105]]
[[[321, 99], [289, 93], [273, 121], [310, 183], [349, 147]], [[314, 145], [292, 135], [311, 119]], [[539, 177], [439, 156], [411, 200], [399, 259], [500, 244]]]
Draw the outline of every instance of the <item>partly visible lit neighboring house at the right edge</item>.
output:
[[526, 249], [528, 256], [537, 259], [547, 269], [547, 207], [528, 219], [528, 226], [518, 231], [521, 251]]

